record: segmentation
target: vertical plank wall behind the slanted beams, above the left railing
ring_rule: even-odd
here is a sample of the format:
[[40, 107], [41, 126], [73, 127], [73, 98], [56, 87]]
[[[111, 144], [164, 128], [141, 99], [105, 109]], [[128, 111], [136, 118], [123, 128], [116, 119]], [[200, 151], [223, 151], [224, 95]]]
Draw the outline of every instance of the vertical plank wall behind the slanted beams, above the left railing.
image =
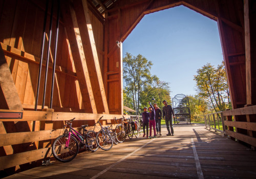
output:
[[[47, 20], [47, 40], [45, 43], [44, 60], [49, 36], [50, 8]], [[55, 1], [56, 3], [56, 1]], [[2, 1], [0, 8], [0, 41], [4, 49], [7, 62], [9, 64], [12, 77], [22, 104], [27, 108], [34, 108], [36, 95], [36, 85], [38, 76], [38, 63], [40, 58], [40, 44], [44, 22], [46, 1]], [[52, 39], [55, 38], [56, 12], [54, 8]], [[103, 22], [89, 11], [91, 24], [93, 27], [95, 44], [98, 52], [98, 59], [101, 70], [103, 61]], [[62, 16], [61, 16], [62, 17]], [[8, 50], [19, 52], [19, 55], [8, 53]], [[50, 87], [52, 76], [52, 56], [54, 52], [54, 42], [51, 42], [50, 70], [48, 71], [46, 106], [50, 105]], [[22, 54], [27, 53], [30, 58], [21, 58]], [[21, 54], [21, 55], [20, 55]], [[42, 87], [44, 85], [45, 67], [43, 62], [42, 76], [38, 105], [42, 103]], [[58, 36], [58, 50], [56, 61], [56, 79], [54, 84], [53, 108], [57, 111], [76, 111], [83, 112], [83, 103], [76, 71], [73, 64], [69, 40], [65, 30], [63, 19], [60, 19]]]

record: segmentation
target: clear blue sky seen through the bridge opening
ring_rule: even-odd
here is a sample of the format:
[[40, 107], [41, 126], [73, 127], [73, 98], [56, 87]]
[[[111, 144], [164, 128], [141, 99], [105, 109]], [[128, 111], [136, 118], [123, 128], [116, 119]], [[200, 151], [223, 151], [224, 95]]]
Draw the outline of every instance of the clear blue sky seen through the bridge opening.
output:
[[223, 61], [217, 21], [184, 6], [145, 15], [124, 40], [126, 52], [152, 61], [152, 74], [170, 83], [172, 98], [195, 95], [197, 69]]

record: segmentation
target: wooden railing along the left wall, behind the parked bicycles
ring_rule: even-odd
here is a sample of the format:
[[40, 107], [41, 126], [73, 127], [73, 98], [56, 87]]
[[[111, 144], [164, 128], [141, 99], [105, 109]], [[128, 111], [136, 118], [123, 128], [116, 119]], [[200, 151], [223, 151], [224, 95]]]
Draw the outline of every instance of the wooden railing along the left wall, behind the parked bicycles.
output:
[[[4, 149], [5, 156], [0, 156], [0, 170], [30, 163], [33, 161], [44, 161], [51, 156], [51, 144], [55, 138], [62, 135], [63, 130], [60, 128], [51, 128], [48, 130], [31, 131], [19, 131], [6, 133], [5, 122], [12, 122], [12, 124], [18, 121], [25, 121], [28, 124], [34, 122], [42, 123], [54, 123], [56, 121], [67, 121], [76, 118], [76, 129], [80, 130], [79, 126], [82, 124], [89, 124], [88, 128], [92, 128], [95, 122], [101, 117], [102, 125], [113, 124], [115, 128], [116, 118], [121, 118], [121, 115], [106, 115], [106, 114], [86, 114], [86, 113], [58, 113], [53, 111], [17, 111], [17, 110], [4, 110], [0, 109], [0, 147]], [[130, 117], [125, 115], [125, 117]], [[74, 122], [75, 122], [74, 121]], [[63, 126], [64, 122], [59, 126]], [[52, 125], [53, 126], [53, 125]], [[90, 127], [91, 126], [91, 127]], [[97, 129], [96, 129], [97, 130]], [[40, 143], [43, 143], [40, 145]], [[26, 144], [27, 151], [17, 152], [17, 144]], [[32, 146], [32, 147], [31, 147]]]

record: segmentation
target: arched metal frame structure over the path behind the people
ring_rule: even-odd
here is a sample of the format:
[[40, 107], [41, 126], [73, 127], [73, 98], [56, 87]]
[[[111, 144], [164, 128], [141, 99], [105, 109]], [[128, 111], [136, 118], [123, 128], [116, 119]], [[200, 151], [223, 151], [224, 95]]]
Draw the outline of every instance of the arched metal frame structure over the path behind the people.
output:
[[173, 98], [173, 109], [175, 114], [174, 123], [185, 121], [187, 124], [191, 124], [189, 98], [186, 95], [178, 94]]

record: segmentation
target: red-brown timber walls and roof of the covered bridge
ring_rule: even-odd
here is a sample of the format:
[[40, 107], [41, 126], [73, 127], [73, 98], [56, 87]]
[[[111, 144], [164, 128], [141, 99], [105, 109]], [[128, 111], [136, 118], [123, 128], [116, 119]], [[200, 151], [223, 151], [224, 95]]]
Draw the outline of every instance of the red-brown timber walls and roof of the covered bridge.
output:
[[0, 169], [49, 158], [65, 120], [79, 127], [103, 115], [103, 125], [114, 124], [123, 115], [122, 42], [144, 15], [181, 5], [217, 21], [233, 107], [228, 135], [256, 146], [255, 1], [2, 0]]

